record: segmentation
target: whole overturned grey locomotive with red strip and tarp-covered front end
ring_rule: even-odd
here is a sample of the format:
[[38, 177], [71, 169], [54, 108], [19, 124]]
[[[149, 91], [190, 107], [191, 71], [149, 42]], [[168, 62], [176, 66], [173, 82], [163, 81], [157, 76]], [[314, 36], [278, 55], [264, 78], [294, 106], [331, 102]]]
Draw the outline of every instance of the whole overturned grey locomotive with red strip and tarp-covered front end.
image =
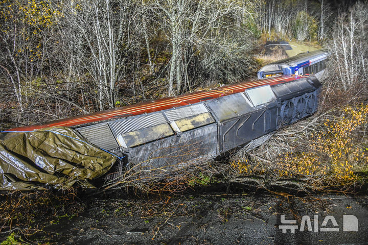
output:
[[[73, 173], [78, 173], [85, 178], [83, 173], [88, 169], [93, 172], [93, 175], [88, 174], [88, 176], [95, 178], [93, 176], [99, 176], [93, 163], [96, 156], [91, 156], [95, 157], [91, 158], [95, 160], [91, 160], [88, 154], [91, 154], [90, 152], [101, 154], [98, 149], [120, 159], [114, 166], [109, 163], [110, 165], [105, 164], [101, 167], [101, 169], [110, 169], [112, 166], [110, 173], [113, 174], [106, 177], [109, 180], [119, 179], [126, 167], [139, 166], [139, 169], [150, 173], [152, 169], [214, 159], [242, 146], [251, 149], [263, 143], [270, 133], [280, 127], [313, 114], [317, 110], [320, 86], [315, 76], [286, 75], [114, 108], [53, 121], [45, 125], [7, 130], [13, 133], [28, 132], [27, 134], [39, 133], [43, 130], [51, 135], [50, 132], [53, 131], [45, 128], [67, 127], [67, 130], [72, 130], [73, 137], [56, 133], [58, 136], [63, 135], [74, 141], [73, 154], [76, 157], [65, 156], [66, 150], [70, 150], [68, 139], [61, 139], [62, 144], [59, 144], [60, 139], [56, 139], [57, 143], [53, 145], [51, 153], [48, 153], [50, 155], [48, 157], [52, 160], [48, 162], [47, 157], [42, 155], [44, 149], [40, 151], [37, 149], [38, 145], [43, 144], [45, 139], [43, 135], [41, 136], [43, 139], [30, 144], [31, 150], [29, 148], [26, 150], [31, 152], [31, 156], [24, 153], [26, 148], [19, 148], [18, 152], [10, 152], [15, 156], [13, 158], [7, 157], [9, 152], [2, 151], [0, 163], [6, 158], [5, 165], [10, 163], [12, 167], [8, 167], [10, 170], [4, 170], [4, 164], [0, 164], [0, 177], [3, 176], [3, 182], [6, 183], [3, 183], [3, 186], [11, 186], [6, 180], [9, 178], [11, 181], [32, 179], [42, 182], [44, 180], [41, 174], [56, 175], [55, 172], [63, 175], [66, 173], [68, 178], [74, 178]], [[21, 135], [16, 140], [26, 141], [29, 138], [31, 138], [30, 135]], [[11, 144], [18, 143], [26, 144], [25, 142]], [[96, 146], [95, 150], [89, 151], [88, 145]], [[84, 146], [89, 150], [80, 152], [79, 148]], [[5, 145], [5, 148], [7, 147]], [[14, 149], [16, 147], [14, 146]], [[60, 152], [59, 155], [53, 156], [58, 152]], [[19, 154], [22, 155], [21, 158], [17, 157]], [[63, 159], [59, 159], [60, 155]], [[87, 157], [87, 159], [83, 162], [80, 160], [81, 157]], [[103, 157], [108, 158], [106, 155]], [[25, 158], [28, 160], [19, 164]], [[46, 160], [37, 163], [37, 159]], [[75, 170], [81, 163], [84, 165]], [[53, 166], [53, 164], [57, 165]], [[21, 165], [27, 170], [20, 170], [20, 174], [15, 173], [14, 171], [20, 169]], [[65, 170], [64, 166], [68, 168]], [[101, 173], [105, 174], [106, 171], [101, 170]], [[0, 182], [2, 182], [1, 178]]]

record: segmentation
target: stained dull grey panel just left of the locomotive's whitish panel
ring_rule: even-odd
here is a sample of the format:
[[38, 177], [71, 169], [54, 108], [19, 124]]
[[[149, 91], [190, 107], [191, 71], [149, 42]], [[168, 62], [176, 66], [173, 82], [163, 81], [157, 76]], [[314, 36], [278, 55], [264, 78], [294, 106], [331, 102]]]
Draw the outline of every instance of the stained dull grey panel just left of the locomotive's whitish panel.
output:
[[219, 121], [223, 121], [253, 110], [244, 96], [242, 93], [235, 93], [206, 102], [206, 105]]

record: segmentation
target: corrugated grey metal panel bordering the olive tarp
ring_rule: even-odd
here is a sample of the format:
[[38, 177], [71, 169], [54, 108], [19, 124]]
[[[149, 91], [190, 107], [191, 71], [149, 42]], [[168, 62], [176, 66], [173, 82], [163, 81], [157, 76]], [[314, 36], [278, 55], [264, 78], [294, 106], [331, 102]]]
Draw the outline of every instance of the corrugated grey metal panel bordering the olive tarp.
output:
[[110, 151], [119, 147], [106, 123], [82, 127], [77, 130], [85, 139], [99, 148]]

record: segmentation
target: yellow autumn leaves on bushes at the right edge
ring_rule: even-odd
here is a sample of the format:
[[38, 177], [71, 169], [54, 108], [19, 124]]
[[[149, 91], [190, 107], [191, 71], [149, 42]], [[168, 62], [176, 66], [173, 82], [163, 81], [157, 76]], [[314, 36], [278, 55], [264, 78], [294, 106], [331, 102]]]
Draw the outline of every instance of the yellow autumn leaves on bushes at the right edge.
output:
[[[325, 119], [322, 130], [313, 133], [303, 151], [281, 154], [276, 167], [270, 168], [278, 177], [333, 177], [339, 184], [353, 182], [355, 166], [368, 165], [368, 156], [360, 145], [359, 130], [367, 124], [368, 105], [347, 106], [342, 115]], [[260, 163], [240, 159], [231, 162], [238, 174], [264, 172]]]

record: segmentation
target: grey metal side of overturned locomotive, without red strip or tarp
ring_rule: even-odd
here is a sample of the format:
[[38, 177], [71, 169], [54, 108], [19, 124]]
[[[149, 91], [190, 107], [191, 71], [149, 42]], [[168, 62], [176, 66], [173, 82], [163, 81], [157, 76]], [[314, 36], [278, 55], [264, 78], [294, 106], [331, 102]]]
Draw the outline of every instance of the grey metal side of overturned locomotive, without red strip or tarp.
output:
[[320, 83], [315, 77], [271, 82], [276, 84], [76, 129], [142, 170], [213, 159], [239, 146], [254, 148], [272, 131], [316, 111]]

